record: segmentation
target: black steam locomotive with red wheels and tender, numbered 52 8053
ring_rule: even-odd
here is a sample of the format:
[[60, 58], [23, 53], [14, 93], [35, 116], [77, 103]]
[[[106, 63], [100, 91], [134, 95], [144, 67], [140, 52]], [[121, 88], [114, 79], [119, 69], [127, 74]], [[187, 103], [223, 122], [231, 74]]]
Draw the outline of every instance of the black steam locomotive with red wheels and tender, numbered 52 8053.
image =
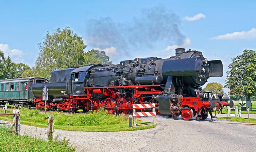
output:
[[[105, 108], [109, 114], [132, 112], [133, 104], [156, 103], [160, 115], [204, 120], [208, 112], [222, 113], [233, 102], [211, 100], [202, 90], [209, 77], [222, 77], [221, 60], [207, 61], [200, 51], [175, 50], [175, 56], [124, 60], [114, 65], [88, 65], [53, 71], [50, 83], [32, 84], [37, 108], [44, 109], [42, 88], [49, 89], [49, 110], [83, 109], [84, 112]], [[144, 109], [147, 110], [147, 109]]]

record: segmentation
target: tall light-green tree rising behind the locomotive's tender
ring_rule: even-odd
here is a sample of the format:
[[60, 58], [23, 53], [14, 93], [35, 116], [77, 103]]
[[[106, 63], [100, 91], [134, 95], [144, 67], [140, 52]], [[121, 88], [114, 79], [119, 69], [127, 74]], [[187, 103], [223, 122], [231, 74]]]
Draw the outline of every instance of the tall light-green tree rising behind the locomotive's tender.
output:
[[47, 32], [43, 42], [38, 44], [39, 55], [33, 73], [50, 78], [51, 72], [58, 69], [85, 66], [84, 45], [82, 37], [66, 27], [58, 28], [53, 33]]

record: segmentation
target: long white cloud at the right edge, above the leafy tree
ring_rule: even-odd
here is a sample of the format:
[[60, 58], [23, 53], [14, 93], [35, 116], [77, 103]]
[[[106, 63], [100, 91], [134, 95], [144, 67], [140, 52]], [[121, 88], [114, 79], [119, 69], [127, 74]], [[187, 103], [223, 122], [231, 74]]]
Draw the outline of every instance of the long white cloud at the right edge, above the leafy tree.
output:
[[210, 40], [252, 39], [255, 37], [256, 37], [256, 28], [252, 28], [250, 31], [227, 33], [224, 35], [212, 37]]

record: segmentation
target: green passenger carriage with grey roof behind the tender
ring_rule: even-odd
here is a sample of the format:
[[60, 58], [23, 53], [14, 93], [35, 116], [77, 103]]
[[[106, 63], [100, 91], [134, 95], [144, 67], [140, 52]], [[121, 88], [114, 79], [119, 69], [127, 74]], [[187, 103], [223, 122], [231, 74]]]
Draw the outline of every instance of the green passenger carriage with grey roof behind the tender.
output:
[[30, 106], [33, 105], [32, 84], [48, 83], [45, 78], [27, 77], [0, 80], [0, 105]]

